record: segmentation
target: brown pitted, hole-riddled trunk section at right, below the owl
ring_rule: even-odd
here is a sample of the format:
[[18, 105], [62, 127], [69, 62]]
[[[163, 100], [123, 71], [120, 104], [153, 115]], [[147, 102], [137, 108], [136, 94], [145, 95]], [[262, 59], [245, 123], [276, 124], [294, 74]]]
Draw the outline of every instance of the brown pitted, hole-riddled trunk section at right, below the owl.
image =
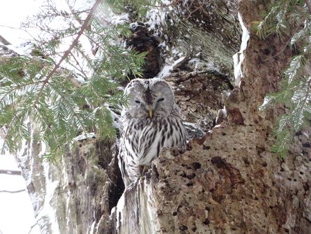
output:
[[[265, 41], [256, 37], [252, 26], [261, 19], [263, 2], [239, 1], [238, 6], [250, 39], [243, 77], [225, 102], [227, 120], [204, 138], [191, 141], [187, 152], [167, 150], [153, 161], [149, 177], [145, 175], [135, 188], [127, 189], [124, 202], [117, 207], [120, 233], [311, 230], [310, 128], [295, 136], [290, 154], [280, 160], [270, 152], [269, 136], [281, 110], [258, 111], [265, 95], [277, 91], [291, 53], [285, 50], [274, 57], [285, 44], [273, 36]], [[209, 78], [207, 73], [205, 78]], [[177, 83], [180, 79], [190, 80], [189, 90], [191, 85], [200, 87], [196, 78], [178, 78]], [[204, 91], [191, 94], [191, 100], [201, 98], [203, 106], [211, 107], [202, 99]], [[192, 106], [191, 112], [196, 112], [196, 102]], [[142, 219], [148, 215], [151, 224]]]

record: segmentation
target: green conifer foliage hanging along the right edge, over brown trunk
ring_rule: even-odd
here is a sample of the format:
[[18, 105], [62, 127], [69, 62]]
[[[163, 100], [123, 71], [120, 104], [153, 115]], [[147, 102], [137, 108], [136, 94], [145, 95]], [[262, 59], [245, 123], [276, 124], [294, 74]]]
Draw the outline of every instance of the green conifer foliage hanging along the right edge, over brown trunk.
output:
[[281, 102], [286, 113], [275, 130], [274, 152], [281, 157], [288, 154], [292, 136], [311, 120], [311, 3], [309, 0], [274, 1], [263, 21], [258, 24], [258, 35], [263, 39], [276, 33], [288, 39], [294, 56], [284, 71], [281, 90], [265, 98], [267, 107]]

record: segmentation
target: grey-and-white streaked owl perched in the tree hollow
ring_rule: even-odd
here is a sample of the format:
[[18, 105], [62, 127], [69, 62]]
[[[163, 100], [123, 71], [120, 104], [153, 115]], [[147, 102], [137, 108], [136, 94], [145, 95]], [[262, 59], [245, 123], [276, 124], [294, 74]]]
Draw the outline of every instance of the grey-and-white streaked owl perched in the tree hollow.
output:
[[135, 79], [124, 93], [129, 105], [122, 110], [119, 167], [124, 185], [140, 178], [163, 147], [185, 149], [187, 132], [173, 91], [164, 80]]

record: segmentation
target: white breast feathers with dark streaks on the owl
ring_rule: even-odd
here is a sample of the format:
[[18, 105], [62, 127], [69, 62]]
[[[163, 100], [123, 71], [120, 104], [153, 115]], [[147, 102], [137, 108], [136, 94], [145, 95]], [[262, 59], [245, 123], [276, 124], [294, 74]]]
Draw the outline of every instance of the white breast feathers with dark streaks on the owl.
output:
[[139, 166], [150, 165], [163, 147], [186, 146], [186, 130], [179, 116], [131, 118], [126, 122], [122, 136], [126, 150], [122, 156], [126, 164], [136, 168], [138, 174], [140, 174]]

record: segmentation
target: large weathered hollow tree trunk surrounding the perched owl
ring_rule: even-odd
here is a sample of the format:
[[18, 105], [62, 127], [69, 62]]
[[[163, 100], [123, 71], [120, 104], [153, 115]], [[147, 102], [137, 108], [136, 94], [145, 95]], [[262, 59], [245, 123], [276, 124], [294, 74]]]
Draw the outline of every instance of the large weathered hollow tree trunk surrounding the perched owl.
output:
[[[166, 78], [182, 117], [194, 123], [189, 125], [193, 139], [186, 152], [162, 151], [137, 183], [124, 190], [115, 142], [85, 139], [55, 163], [42, 159], [44, 148], [35, 140], [23, 145], [17, 157], [41, 233], [310, 233], [311, 128], [297, 133], [288, 156], [279, 159], [270, 152], [270, 134], [282, 110], [258, 111], [265, 95], [278, 90], [291, 57], [278, 37], [256, 36], [253, 23], [261, 20], [264, 2], [194, 1], [191, 7], [217, 8], [187, 8], [189, 24], [196, 26], [204, 15], [208, 27], [200, 28], [202, 35], [218, 39], [210, 42], [214, 46], [202, 45], [209, 55], [198, 55], [199, 65], [214, 66], [187, 60]], [[237, 8], [249, 41], [240, 51], [242, 70], [236, 71], [232, 89], [231, 56], [238, 52], [241, 32]], [[227, 53], [220, 53], [225, 48]], [[193, 50], [197, 54], [200, 44]], [[223, 100], [223, 91], [230, 89]], [[207, 133], [223, 105], [227, 118], [220, 111], [220, 125]]]

